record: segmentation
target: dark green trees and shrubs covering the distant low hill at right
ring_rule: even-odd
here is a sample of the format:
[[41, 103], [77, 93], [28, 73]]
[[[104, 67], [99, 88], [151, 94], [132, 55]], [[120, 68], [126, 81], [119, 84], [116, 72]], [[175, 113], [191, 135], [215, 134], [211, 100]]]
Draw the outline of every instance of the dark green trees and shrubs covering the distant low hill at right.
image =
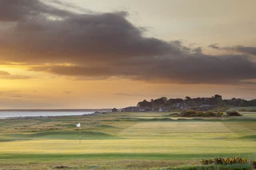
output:
[[[188, 96], [185, 99], [181, 98], [166, 98], [161, 97], [158, 99], [151, 99], [150, 102], [147, 100], [143, 100], [142, 102], [138, 102], [138, 106], [140, 108], [144, 108], [147, 110], [158, 111], [160, 108], [165, 108], [165, 110], [169, 111], [177, 111], [179, 109], [190, 108], [195, 111], [225, 111], [226, 109], [230, 109], [232, 107], [241, 108], [238, 111], [256, 111], [256, 99], [253, 100], [244, 100], [240, 98], [232, 98], [232, 99], [222, 99], [222, 96], [216, 94], [212, 97], [208, 98], [190, 98]], [[233, 111], [233, 110], [229, 110]]]

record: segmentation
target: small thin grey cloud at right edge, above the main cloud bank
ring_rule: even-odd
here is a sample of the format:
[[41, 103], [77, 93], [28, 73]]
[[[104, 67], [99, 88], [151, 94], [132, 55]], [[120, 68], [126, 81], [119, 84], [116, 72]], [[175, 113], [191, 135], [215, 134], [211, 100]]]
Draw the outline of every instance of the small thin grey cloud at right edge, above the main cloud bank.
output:
[[219, 50], [228, 50], [228, 51], [234, 51], [238, 53], [245, 53], [249, 55], [256, 55], [256, 47], [246, 47], [244, 45], [236, 45], [233, 47], [218, 47], [218, 44], [211, 44], [208, 47], [211, 47], [213, 49], [219, 49]]

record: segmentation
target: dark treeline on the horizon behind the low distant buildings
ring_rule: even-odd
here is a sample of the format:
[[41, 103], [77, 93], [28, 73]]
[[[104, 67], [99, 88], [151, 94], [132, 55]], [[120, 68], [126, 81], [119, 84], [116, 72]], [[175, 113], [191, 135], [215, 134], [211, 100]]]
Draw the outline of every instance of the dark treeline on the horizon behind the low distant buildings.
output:
[[150, 101], [143, 100], [142, 102], [138, 102], [140, 107], [154, 108], [154, 110], [169, 107], [169, 108], [186, 108], [186, 107], [199, 107], [204, 105], [209, 106], [234, 106], [234, 107], [248, 107], [248, 106], [256, 106], [256, 99], [254, 100], [244, 100], [240, 98], [232, 98], [232, 99], [222, 99], [222, 96], [216, 94], [210, 98], [190, 98], [188, 96], [185, 99], [181, 98], [170, 98], [166, 97], [151, 99]]

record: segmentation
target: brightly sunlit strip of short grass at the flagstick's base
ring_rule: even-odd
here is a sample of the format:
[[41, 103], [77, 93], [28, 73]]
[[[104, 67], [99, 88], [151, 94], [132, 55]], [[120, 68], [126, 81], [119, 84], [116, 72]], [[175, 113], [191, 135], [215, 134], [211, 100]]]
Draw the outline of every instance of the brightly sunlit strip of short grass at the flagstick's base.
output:
[[[253, 139], [252, 139], [253, 140]], [[26, 150], [24, 150], [26, 148]], [[1, 153], [23, 154], [104, 154], [104, 153], [164, 153], [164, 154], [254, 154], [256, 141], [230, 140], [84, 140], [81, 145], [76, 140], [36, 140], [1, 143]]]

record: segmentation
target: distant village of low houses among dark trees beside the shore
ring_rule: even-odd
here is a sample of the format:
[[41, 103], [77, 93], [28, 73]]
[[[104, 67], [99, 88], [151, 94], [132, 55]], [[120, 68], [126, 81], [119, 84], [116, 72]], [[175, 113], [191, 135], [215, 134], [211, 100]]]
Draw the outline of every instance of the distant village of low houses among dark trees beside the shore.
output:
[[244, 100], [240, 98], [222, 99], [222, 96], [216, 94], [210, 98], [190, 98], [184, 99], [166, 97], [143, 100], [138, 102], [137, 106], [124, 107], [122, 109], [113, 108], [112, 112], [117, 111], [178, 111], [180, 109], [193, 109], [196, 111], [207, 111], [218, 107], [248, 107], [256, 106], [256, 99]]

